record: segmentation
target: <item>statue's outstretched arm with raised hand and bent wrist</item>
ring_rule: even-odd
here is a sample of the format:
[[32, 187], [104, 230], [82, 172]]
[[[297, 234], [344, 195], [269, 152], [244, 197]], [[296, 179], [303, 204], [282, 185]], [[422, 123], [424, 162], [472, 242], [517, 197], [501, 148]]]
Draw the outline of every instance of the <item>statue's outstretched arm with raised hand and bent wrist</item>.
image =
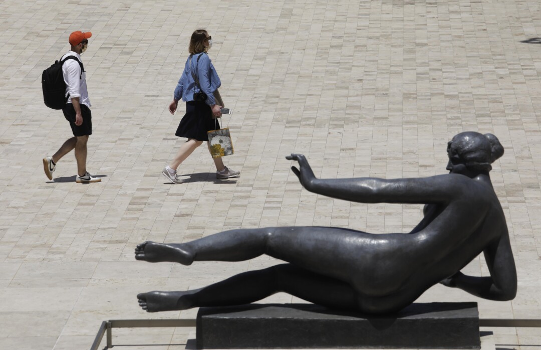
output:
[[[302, 154], [286, 157], [299, 162], [291, 169], [308, 191], [360, 203], [447, 203], [466, 190], [460, 175], [410, 179], [318, 179]], [[466, 178], [464, 178], [466, 180]]]

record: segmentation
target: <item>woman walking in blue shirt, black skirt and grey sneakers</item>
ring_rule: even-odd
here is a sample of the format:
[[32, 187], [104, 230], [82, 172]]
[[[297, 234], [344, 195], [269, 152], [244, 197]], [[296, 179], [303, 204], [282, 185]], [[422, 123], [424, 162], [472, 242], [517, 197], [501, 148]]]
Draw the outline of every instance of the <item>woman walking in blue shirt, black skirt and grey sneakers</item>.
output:
[[[173, 101], [169, 104], [169, 112], [175, 114], [180, 99], [186, 102], [186, 114], [182, 117], [175, 135], [187, 138], [188, 141], [184, 142], [173, 161], [162, 171], [162, 174], [174, 184], [182, 183], [177, 177], [176, 170], [184, 159], [188, 158], [188, 155], [192, 154], [203, 141], [208, 141], [208, 131], [220, 128], [219, 122], [213, 119], [213, 116], [219, 118], [223, 106], [216, 103], [213, 93], [221, 86], [221, 81], [207, 55], [211, 47], [212, 37], [206, 30], [194, 31], [188, 48], [190, 56], [176, 86]], [[221, 157], [213, 159], [217, 179], [223, 180], [240, 175], [240, 171], [223, 165]]]

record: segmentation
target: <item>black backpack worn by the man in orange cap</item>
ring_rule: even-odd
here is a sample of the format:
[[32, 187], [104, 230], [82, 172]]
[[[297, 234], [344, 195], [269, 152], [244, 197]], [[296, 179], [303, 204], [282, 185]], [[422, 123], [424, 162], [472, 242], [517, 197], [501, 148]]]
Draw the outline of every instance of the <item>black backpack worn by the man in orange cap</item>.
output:
[[[62, 109], [69, 99], [69, 94], [68, 96], [65, 95], [66, 84], [64, 82], [64, 75], [62, 74], [62, 65], [68, 60], [75, 60], [79, 63], [82, 76], [84, 72], [83, 63], [77, 60], [75, 56], [68, 56], [61, 61], [55, 61], [51, 67], [43, 70], [43, 74], [41, 75], [43, 102], [49, 108]], [[79, 79], [81, 79], [81, 76], [79, 76]]]

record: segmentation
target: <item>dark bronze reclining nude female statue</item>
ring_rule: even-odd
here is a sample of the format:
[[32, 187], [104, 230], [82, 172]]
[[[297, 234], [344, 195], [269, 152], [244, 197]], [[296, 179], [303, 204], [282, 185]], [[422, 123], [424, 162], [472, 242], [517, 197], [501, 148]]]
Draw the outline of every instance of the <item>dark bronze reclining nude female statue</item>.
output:
[[[318, 179], [304, 155], [286, 157], [308, 191], [360, 203], [425, 204], [408, 234], [368, 234], [332, 227], [237, 229], [164, 244], [144, 242], [148, 262], [243, 261], [262, 254], [287, 263], [248, 271], [208, 287], [138, 294], [148, 312], [251, 303], [283, 291], [329, 308], [382, 314], [398, 311], [437, 283], [491, 300], [517, 291], [509, 232], [489, 171], [503, 155], [492, 134], [464, 132], [448, 142], [448, 174], [410, 179]], [[460, 269], [484, 253], [490, 276]]]

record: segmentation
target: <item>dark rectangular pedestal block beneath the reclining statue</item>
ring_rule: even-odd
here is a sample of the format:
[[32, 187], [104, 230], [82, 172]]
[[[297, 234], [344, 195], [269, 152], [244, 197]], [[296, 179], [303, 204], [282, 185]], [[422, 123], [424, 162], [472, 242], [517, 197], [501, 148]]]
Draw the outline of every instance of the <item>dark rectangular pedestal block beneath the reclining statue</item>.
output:
[[392, 315], [340, 312], [314, 304], [201, 308], [198, 349], [479, 349], [477, 303], [415, 303]]

